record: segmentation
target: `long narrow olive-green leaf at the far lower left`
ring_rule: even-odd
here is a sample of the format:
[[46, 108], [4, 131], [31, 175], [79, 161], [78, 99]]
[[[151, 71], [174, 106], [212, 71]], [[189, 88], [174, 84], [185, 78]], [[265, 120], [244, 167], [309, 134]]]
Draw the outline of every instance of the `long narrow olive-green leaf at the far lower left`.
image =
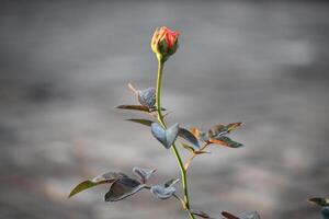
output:
[[93, 186], [100, 185], [100, 184], [104, 184], [104, 183], [113, 183], [114, 181], [118, 180], [118, 178], [123, 178], [123, 177], [127, 177], [126, 174], [122, 173], [122, 172], [106, 172], [106, 173], [102, 173], [98, 176], [95, 176], [94, 178], [92, 178], [91, 181], [83, 181], [82, 183], [79, 183], [69, 194], [69, 198], [72, 197], [73, 195], [86, 191], [88, 188], [91, 188]]

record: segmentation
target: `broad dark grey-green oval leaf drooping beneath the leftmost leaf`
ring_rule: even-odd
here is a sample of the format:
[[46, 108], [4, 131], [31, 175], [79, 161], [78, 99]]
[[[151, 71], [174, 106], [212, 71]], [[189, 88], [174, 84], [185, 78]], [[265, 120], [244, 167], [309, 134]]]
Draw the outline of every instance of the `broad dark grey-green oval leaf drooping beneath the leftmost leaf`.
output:
[[115, 181], [110, 191], [105, 194], [105, 201], [117, 201], [132, 196], [144, 188], [145, 185], [134, 178], [121, 178]]

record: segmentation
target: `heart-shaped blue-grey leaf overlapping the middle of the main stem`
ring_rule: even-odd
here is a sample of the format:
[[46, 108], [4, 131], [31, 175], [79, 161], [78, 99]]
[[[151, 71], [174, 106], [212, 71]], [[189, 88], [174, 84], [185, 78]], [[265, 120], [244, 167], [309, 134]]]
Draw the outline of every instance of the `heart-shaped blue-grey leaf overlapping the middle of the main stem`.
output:
[[164, 129], [160, 124], [152, 123], [151, 124], [151, 134], [152, 136], [160, 141], [166, 149], [169, 149], [172, 143], [175, 141], [179, 134], [179, 124], [174, 124], [173, 126]]

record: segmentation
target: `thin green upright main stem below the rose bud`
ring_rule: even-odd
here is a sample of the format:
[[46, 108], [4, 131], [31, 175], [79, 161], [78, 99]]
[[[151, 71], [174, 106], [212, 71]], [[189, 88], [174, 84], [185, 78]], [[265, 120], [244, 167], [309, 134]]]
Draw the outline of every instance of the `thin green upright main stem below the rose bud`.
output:
[[[156, 93], [156, 107], [157, 107], [157, 112], [158, 112], [158, 120], [161, 124], [161, 126], [163, 128], [167, 128], [167, 125], [163, 120], [163, 116], [162, 116], [162, 112], [161, 112], [161, 102], [160, 102], [160, 97], [161, 97], [161, 85], [162, 85], [162, 71], [163, 71], [163, 59], [161, 57], [158, 57], [158, 79], [157, 79], [157, 93]], [[184, 193], [184, 203], [185, 203], [185, 208], [188, 210], [188, 214], [190, 216], [191, 219], [195, 219], [194, 215], [191, 214], [190, 211], [190, 200], [189, 200], [189, 193], [188, 193], [188, 182], [186, 182], [186, 171], [184, 169], [184, 164], [183, 161], [181, 159], [181, 155], [175, 147], [175, 145], [173, 143], [171, 147], [171, 150], [173, 152], [173, 154], [177, 158], [178, 164], [180, 166], [180, 171], [181, 171], [181, 177], [182, 177], [182, 186], [183, 186], [183, 193]]]

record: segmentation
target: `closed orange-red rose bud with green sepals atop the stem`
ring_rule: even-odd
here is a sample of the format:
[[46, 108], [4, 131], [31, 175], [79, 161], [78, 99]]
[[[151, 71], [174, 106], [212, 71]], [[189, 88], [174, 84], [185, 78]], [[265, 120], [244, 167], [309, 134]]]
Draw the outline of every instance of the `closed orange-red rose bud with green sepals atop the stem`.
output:
[[169, 56], [175, 53], [179, 35], [179, 32], [171, 31], [166, 26], [156, 30], [151, 41], [151, 48], [158, 59], [166, 61]]

